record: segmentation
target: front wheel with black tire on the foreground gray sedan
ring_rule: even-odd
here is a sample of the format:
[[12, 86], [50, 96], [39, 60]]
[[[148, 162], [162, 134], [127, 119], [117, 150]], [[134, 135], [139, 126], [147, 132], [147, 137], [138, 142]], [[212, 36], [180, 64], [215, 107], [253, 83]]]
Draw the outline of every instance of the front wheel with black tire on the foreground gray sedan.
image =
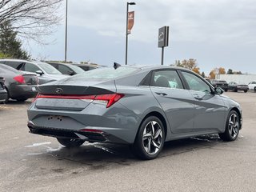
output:
[[226, 118], [225, 132], [218, 135], [223, 141], [232, 142], [238, 138], [240, 126], [241, 123], [238, 113], [235, 110], [231, 110]]

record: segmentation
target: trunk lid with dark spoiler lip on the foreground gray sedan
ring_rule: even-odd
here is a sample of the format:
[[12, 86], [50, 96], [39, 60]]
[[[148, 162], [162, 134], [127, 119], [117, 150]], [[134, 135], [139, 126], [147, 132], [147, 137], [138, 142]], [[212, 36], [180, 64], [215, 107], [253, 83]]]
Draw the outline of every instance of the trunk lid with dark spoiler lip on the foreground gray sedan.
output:
[[66, 82], [47, 83], [38, 86], [36, 107], [48, 110], [83, 110], [93, 101], [94, 95], [114, 94], [114, 80], [107, 82]]

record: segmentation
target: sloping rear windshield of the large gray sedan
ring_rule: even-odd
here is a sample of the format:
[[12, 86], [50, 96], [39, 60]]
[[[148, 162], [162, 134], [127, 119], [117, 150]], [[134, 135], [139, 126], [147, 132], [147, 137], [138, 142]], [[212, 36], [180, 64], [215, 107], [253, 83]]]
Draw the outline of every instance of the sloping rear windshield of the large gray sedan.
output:
[[82, 79], [111, 79], [120, 78], [129, 74], [134, 74], [140, 69], [137, 67], [118, 67], [116, 70], [114, 67], [102, 67], [95, 70], [87, 70], [83, 74], [75, 75], [70, 78], [72, 81], [79, 81]]

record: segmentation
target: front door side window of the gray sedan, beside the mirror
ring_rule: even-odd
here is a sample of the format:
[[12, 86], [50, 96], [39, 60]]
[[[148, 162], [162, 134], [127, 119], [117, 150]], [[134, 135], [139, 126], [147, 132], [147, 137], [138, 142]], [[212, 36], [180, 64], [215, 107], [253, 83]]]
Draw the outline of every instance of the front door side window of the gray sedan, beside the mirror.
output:
[[194, 74], [182, 71], [184, 78], [186, 79], [187, 84], [190, 86], [190, 90], [203, 91], [205, 93], [210, 93], [210, 86], [206, 82], [202, 81], [201, 78], [198, 78]]

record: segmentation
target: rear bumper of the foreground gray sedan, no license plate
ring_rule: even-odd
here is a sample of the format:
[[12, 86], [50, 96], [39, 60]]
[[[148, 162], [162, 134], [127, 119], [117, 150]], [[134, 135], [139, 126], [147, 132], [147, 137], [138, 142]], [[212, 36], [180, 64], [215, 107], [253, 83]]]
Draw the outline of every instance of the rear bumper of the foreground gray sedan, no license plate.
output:
[[[38, 101], [34, 102], [27, 111], [28, 126], [30, 132], [34, 134], [55, 138], [75, 137], [94, 142], [133, 143], [141, 123], [137, 114], [118, 102], [110, 108], [106, 108], [106, 104], [94, 103], [86, 106], [83, 110], [76, 110], [70, 107], [42, 109], [38, 108]], [[62, 105], [64, 104], [62, 103]], [[96, 132], [102, 132], [102, 134], [96, 134], [96, 136], [100, 136], [96, 139], [92, 138], [88, 131], [82, 130], [97, 130]], [[86, 138], [80, 138], [78, 134]]]

